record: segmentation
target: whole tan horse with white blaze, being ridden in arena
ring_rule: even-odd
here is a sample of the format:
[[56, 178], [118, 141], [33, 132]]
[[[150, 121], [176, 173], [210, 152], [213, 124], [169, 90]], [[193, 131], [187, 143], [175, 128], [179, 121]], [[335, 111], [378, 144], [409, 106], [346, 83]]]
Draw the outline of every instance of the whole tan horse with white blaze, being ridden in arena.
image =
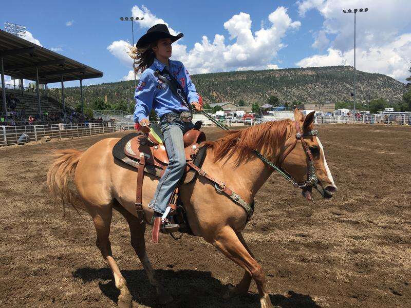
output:
[[[295, 120], [302, 132], [312, 130], [313, 113], [305, 119], [297, 109]], [[301, 141], [295, 144], [296, 127], [290, 120], [268, 122], [233, 131], [215, 142], [207, 142], [207, 157], [202, 169], [212, 177], [223, 181], [228, 187], [251, 203], [258, 189], [269, 178], [273, 169], [258, 159], [252, 150], [256, 149], [277, 164], [287, 150], [295, 145], [282, 167], [298, 182], [307, 180], [308, 159]], [[239, 139], [238, 139], [239, 137]], [[323, 147], [315, 136], [304, 140], [312, 150], [317, 189], [323, 197], [330, 198], [337, 190], [328, 169]], [[111, 150], [119, 138], [107, 138], [91, 146], [85, 152], [74, 149], [59, 150], [57, 158], [47, 174], [47, 183], [54, 196], [63, 197], [74, 207], [85, 209], [92, 217], [97, 231], [97, 247], [113, 272], [116, 287], [120, 290], [118, 305], [132, 307], [126, 281], [120, 273], [111, 254], [109, 231], [113, 208], [128, 222], [131, 244], [140, 258], [150, 283], [156, 287], [161, 303], [172, 301], [157, 281], [153, 267], [145, 251], [145, 224], [140, 224], [135, 211], [136, 169], [118, 162]], [[77, 192], [68, 186], [69, 177], [74, 175]], [[147, 175], [143, 185], [143, 208], [154, 195], [158, 179]], [[285, 185], [287, 183], [285, 182]], [[221, 253], [245, 269], [244, 277], [232, 288], [227, 297], [248, 292], [254, 279], [260, 297], [261, 307], [272, 307], [263, 268], [254, 259], [241, 236], [246, 225], [246, 211], [230, 198], [220, 194], [207, 179], [198, 176], [189, 184], [180, 186], [181, 200], [186, 207], [190, 227], [196, 236], [204, 238]]]

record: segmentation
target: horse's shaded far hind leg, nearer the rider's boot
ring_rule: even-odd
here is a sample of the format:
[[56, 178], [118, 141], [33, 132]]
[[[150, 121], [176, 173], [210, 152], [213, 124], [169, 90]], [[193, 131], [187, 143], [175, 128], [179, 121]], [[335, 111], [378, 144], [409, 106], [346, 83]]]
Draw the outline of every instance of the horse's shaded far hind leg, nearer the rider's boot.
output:
[[167, 294], [164, 287], [157, 280], [157, 275], [151, 265], [150, 259], [148, 259], [147, 253], [145, 251], [144, 233], [145, 233], [145, 222], [141, 223], [138, 221], [137, 217], [129, 213], [120, 203], [116, 202], [114, 208], [118, 210], [121, 215], [126, 219], [128, 226], [130, 228], [131, 244], [136, 251], [141, 263], [143, 264], [144, 271], [148, 276], [148, 281], [150, 284], [156, 288], [157, 295], [159, 297], [159, 302], [161, 304], [167, 304], [173, 301], [173, 297]]

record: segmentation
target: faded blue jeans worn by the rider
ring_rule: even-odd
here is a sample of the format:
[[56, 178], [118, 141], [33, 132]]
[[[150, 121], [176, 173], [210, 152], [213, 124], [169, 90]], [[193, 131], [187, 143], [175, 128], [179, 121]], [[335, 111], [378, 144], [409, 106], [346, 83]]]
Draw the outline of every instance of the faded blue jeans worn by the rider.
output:
[[163, 214], [170, 203], [171, 195], [183, 176], [185, 169], [185, 152], [183, 134], [193, 128], [192, 122], [183, 122], [176, 115], [166, 114], [160, 121], [164, 136], [164, 146], [169, 156], [169, 165], [165, 168], [157, 184], [157, 189], [149, 207]]

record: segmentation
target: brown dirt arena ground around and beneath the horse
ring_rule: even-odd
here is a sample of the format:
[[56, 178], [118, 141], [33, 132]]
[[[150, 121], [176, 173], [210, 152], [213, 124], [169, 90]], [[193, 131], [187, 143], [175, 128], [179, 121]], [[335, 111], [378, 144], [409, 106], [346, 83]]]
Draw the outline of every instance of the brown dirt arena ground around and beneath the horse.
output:
[[[411, 307], [411, 128], [318, 128], [338, 194], [323, 200], [314, 192], [310, 203], [273, 174], [244, 231], [273, 304]], [[211, 140], [222, 134], [206, 132]], [[0, 148], [0, 306], [116, 307], [119, 292], [90, 218], [74, 210], [63, 218], [46, 188], [46, 172], [51, 148], [85, 150], [124, 134]], [[134, 306], [157, 307], [116, 211], [110, 240]], [[254, 283], [245, 297], [221, 298], [243, 271], [199, 238], [161, 235], [160, 244], [147, 241], [147, 251], [175, 298], [170, 307], [259, 307]]]

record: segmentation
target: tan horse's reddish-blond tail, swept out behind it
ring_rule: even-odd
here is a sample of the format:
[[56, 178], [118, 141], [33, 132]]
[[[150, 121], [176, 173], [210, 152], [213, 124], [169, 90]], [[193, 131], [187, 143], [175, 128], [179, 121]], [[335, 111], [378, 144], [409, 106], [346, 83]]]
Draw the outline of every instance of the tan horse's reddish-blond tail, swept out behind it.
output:
[[73, 187], [73, 181], [70, 181], [83, 153], [76, 149], [54, 150], [52, 153], [55, 158], [47, 172], [47, 186], [54, 197], [54, 205], [57, 204], [58, 197], [62, 199], [63, 211], [65, 201], [71, 204], [77, 212], [79, 208], [85, 209], [76, 187]]

